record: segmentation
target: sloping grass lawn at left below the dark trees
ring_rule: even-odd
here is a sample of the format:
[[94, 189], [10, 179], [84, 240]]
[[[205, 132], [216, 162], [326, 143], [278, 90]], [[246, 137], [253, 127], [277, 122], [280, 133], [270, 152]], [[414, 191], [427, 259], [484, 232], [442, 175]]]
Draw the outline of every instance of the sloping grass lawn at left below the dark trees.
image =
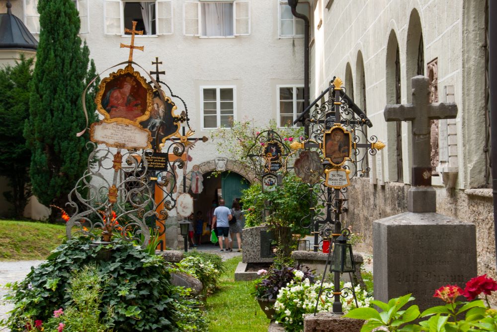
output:
[[0, 261], [44, 260], [65, 235], [65, 225], [0, 220]]

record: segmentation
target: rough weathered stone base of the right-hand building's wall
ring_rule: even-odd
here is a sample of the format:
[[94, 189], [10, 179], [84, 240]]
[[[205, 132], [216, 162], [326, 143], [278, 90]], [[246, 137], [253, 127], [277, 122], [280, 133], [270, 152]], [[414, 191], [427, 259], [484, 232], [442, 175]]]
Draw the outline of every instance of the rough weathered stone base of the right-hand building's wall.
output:
[[[363, 237], [355, 251], [373, 252], [373, 221], [407, 211], [410, 185], [386, 183], [372, 185], [369, 179], [354, 179], [348, 191], [345, 224]], [[494, 213], [490, 189], [446, 189], [435, 187], [437, 212], [476, 224], [478, 273], [497, 277], [494, 238]], [[464, 243], [460, 244], [464, 246]]]

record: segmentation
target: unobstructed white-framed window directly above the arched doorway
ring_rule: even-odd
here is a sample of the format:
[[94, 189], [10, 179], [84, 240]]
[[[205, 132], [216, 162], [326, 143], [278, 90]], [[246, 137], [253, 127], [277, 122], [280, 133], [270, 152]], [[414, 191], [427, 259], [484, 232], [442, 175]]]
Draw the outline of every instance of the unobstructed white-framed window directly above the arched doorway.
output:
[[235, 86], [201, 86], [202, 129], [232, 127], [236, 114]]

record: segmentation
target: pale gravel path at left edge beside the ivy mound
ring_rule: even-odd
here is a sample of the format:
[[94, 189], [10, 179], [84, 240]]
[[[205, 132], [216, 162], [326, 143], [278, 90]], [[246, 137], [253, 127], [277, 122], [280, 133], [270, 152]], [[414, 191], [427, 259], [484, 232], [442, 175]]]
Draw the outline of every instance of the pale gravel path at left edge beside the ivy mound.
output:
[[[0, 262], [0, 299], [7, 293], [3, 287], [7, 282], [21, 281], [31, 270], [31, 266], [38, 266], [43, 261], [18, 261]], [[3, 304], [0, 301], [0, 320], [7, 318], [7, 312], [12, 310], [11, 304]], [[0, 327], [1, 329], [1, 327]], [[9, 330], [0, 330], [8, 332]]]

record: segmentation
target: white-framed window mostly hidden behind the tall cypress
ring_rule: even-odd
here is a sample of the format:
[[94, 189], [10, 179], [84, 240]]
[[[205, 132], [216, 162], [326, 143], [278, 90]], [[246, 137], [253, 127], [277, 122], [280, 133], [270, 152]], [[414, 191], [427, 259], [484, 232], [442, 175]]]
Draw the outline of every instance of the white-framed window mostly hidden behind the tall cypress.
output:
[[[80, 34], [89, 32], [88, 0], [73, 0], [78, 9], [81, 27]], [[24, 0], [22, 3], [24, 11], [24, 24], [29, 32], [40, 33], [40, 14], [38, 13], [38, 0]]]

